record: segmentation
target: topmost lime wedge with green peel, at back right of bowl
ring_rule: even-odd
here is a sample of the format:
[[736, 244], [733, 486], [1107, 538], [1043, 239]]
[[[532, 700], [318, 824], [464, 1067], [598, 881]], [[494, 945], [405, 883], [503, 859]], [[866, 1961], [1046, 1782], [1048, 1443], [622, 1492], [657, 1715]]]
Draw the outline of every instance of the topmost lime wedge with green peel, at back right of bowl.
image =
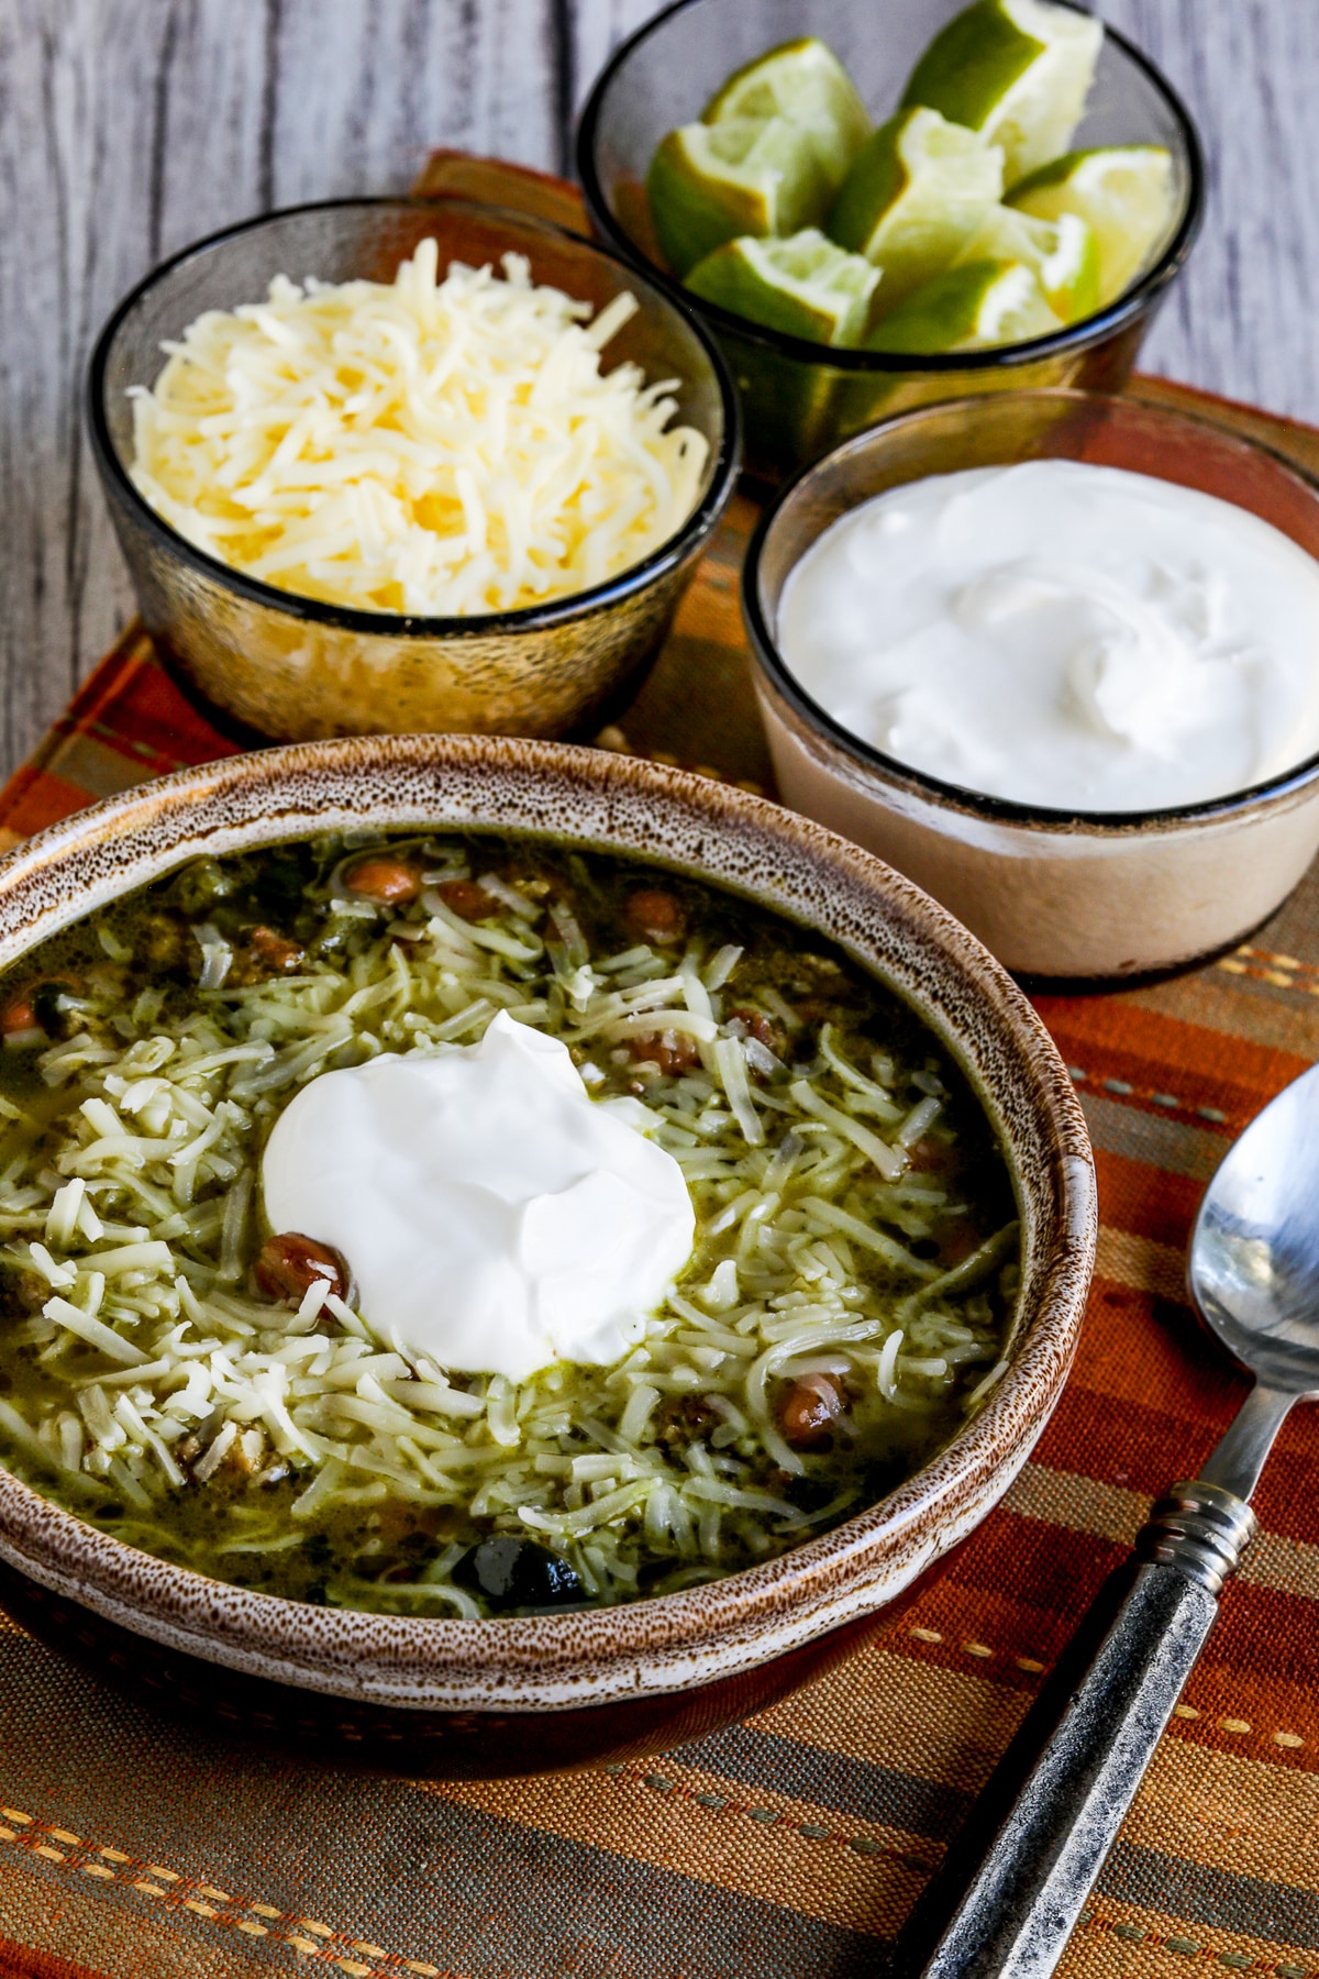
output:
[[975, 0], [916, 63], [902, 97], [1003, 146], [1007, 184], [1072, 142], [1103, 26], [1050, 0]]

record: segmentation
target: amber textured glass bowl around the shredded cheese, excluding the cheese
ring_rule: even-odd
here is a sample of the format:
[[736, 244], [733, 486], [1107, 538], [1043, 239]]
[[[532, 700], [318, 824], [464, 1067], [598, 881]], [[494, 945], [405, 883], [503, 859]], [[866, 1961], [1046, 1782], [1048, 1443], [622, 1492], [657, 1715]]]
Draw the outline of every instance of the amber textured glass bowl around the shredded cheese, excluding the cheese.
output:
[[[641, 309], [609, 342], [676, 380], [678, 420], [710, 443], [696, 509], [641, 564], [589, 592], [483, 617], [394, 617], [275, 590], [186, 542], [138, 495], [131, 386], [204, 309], [261, 301], [273, 275], [392, 281], [417, 241], [441, 267], [526, 255], [532, 277], [603, 309]], [[146, 629], [206, 703], [281, 740], [334, 734], [593, 734], [635, 693], [738, 475], [738, 406], [702, 325], [607, 249], [459, 200], [301, 206], [216, 234], [158, 267], [107, 323], [89, 370], [91, 441]]]

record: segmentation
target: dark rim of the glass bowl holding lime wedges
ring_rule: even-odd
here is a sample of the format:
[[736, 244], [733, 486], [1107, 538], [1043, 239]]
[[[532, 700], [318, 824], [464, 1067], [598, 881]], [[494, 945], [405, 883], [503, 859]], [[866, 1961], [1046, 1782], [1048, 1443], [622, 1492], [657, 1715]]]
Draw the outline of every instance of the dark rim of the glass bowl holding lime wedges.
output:
[[[684, 14], [688, 8], [704, 4], [706, 0], [670, 0], [670, 6], [643, 22], [643, 26], [629, 34], [625, 42], [619, 42], [609, 55], [609, 61], [591, 83], [591, 91], [581, 107], [581, 117], [577, 119], [575, 164], [591, 226], [615, 249], [615, 253], [635, 261], [666, 295], [686, 295], [688, 291], [674, 275], [645, 255], [627, 230], [615, 220], [609, 202], [605, 200], [599, 172], [595, 170], [595, 139], [609, 87], [617, 71], [631, 57], [633, 49], [641, 47], [641, 44], [653, 34], [659, 34], [659, 30], [664, 28], [674, 14]], [[1074, 14], [1092, 12], [1082, 6], [1080, 0], [1058, 0], [1058, 4], [1072, 8]], [[1190, 253], [1204, 220], [1204, 150], [1200, 146], [1200, 137], [1190, 111], [1157, 63], [1153, 63], [1149, 55], [1129, 42], [1125, 34], [1119, 34], [1117, 28], [1103, 22], [1103, 36], [1145, 73], [1155, 91], [1163, 97], [1173, 123], [1181, 133], [1188, 180], [1187, 200], [1171, 241], [1153, 267], [1149, 267], [1139, 281], [1131, 283], [1129, 289], [1123, 289], [1113, 303], [1094, 311], [1090, 317], [1082, 317], [1080, 323], [1068, 323], [1058, 330], [1050, 330], [1046, 336], [1030, 336], [1014, 344], [993, 344], [989, 350], [949, 350], [927, 356], [902, 350], [844, 350], [835, 348], [833, 344], [817, 344], [805, 336], [793, 336], [787, 330], [771, 330], [761, 323], [751, 323], [749, 317], [736, 317], [720, 303], [706, 303], [704, 299], [700, 301], [700, 313], [726, 336], [742, 336], [777, 356], [797, 358], [803, 364], [823, 364], [856, 376], [916, 374], [937, 378], [947, 372], [981, 372], [995, 370], [999, 366], [1016, 368], [1058, 356], [1060, 352], [1086, 350], [1092, 344], [1103, 342], [1113, 330], [1123, 329], [1127, 323], [1145, 313], [1169, 287]]]

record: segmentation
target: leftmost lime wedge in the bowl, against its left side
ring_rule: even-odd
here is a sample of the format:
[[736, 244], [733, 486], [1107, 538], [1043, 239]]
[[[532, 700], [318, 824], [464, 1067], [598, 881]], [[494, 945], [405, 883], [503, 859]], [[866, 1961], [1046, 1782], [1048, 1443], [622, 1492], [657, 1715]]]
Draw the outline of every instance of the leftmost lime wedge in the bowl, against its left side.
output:
[[829, 206], [811, 135], [787, 117], [670, 131], [651, 160], [647, 192], [660, 251], [678, 275], [738, 234], [795, 234]]

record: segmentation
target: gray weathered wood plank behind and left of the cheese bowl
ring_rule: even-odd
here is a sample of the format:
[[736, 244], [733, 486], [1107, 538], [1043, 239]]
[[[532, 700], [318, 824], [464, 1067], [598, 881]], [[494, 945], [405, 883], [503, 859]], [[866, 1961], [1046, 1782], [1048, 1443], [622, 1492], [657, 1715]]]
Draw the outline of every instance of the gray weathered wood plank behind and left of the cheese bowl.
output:
[[131, 610], [87, 445], [97, 325], [271, 206], [407, 186], [437, 141], [558, 164], [550, 0], [10, 0], [0, 10], [0, 770]]

